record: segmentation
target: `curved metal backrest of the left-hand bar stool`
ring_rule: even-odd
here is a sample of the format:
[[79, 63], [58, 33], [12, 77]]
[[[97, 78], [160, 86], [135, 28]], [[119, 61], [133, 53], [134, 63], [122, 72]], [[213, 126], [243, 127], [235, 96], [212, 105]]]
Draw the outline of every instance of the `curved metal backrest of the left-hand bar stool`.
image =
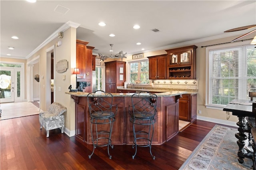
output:
[[105, 115], [106, 113], [112, 113], [113, 106], [113, 95], [111, 93], [106, 93], [105, 91], [95, 91], [87, 95], [87, 102], [89, 106], [90, 115], [98, 114]]

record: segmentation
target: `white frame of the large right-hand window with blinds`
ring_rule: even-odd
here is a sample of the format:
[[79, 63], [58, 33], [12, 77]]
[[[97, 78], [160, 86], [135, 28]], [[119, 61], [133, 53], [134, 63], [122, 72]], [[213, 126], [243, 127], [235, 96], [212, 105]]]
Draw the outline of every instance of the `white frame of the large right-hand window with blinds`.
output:
[[[210, 103], [210, 95], [209, 95], [209, 89], [210, 89], [210, 80], [209, 80], [209, 73], [210, 73], [210, 51], [212, 50], [223, 50], [223, 49], [230, 49], [230, 48], [235, 48], [235, 47], [242, 47], [242, 46], [250, 46], [251, 41], [245, 41], [245, 42], [237, 42], [237, 43], [230, 43], [230, 44], [224, 44], [224, 45], [216, 45], [216, 46], [211, 46], [211, 47], [206, 47], [206, 93], [205, 93], [205, 106], [206, 108], [209, 108], [209, 109], [218, 109], [218, 110], [223, 110], [223, 108], [226, 106], [226, 105], [217, 105], [217, 104], [211, 104]], [[245, 60], [244, 60], [245, 61]], [[244, 64], [244, 63], [242, 63]], [[240, 64], [238, 67], [241, 67]], [[240, 74], [241, 71], [239, 71], [239, 74]], [[239, 76], [240, 77], [240, 76]], [[239, 83], [240, 84], [240, 79], [238, 79]], [[241, 87], [241, 85], [238, 86], [238, 96], [242, 96], [244, 95], [243, 93], [241, 93], [241, 91], [243, 91], [246, 87]], [[244, 97], [244, 96], [243, 96]]]

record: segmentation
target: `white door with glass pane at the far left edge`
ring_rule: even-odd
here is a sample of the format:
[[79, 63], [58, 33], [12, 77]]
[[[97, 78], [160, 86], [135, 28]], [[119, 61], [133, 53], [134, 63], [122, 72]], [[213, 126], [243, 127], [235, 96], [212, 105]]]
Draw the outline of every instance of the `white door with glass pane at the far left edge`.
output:
[[14, 102], [14, 68], [0, 70], [0, 99], [1, 103]]

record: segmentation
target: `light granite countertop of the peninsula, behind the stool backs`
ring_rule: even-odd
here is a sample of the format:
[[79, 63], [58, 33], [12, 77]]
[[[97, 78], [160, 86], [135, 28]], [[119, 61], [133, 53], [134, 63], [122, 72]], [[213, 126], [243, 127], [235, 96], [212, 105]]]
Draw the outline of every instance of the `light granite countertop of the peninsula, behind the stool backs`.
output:
[[[134, 90], [134, 89], [133, 89]], [[146, 90], [145, 90], [146, 91]], [[65, 92], [68, 95], [73, 95], [73, 96], [78, 96], [78, 97], [86, 97], [89, 93], [87, 92]], [[171, 97], [171, 96], [177, 96], [177, 95], [182, 95], [188, 93], [187, 91], [168, 91], [168, 92], [160, 92], [160, 93], [155, 93], [159, 97]], [[114, 97], [130, 97], [134, 93], [111, 93]], [[143, 94], [143, 93], [142, 93]], [[145, 93], [146, 95], [146, 93]], [[98, 96], [101, 96], [99, 93]]]

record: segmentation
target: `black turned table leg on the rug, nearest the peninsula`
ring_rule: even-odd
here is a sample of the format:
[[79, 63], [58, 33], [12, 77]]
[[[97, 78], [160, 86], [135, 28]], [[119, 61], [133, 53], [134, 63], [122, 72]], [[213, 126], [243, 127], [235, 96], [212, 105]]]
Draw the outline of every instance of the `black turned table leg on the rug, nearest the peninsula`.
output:
[[244, 117], [238, 117], [238, 122], [236, 123], [236, 125], [238, 125], [238, 133], [235, 134], [237, 140], [237, 144], [238, 144], [238, 162], [240, 164], [244, 163], [244, 152], [243, 152], [243, 148], [244, 148], [244, 140], [247, 139], [246, 134], [244, 134], [244, 127], [246, 127], [246, 123], [244, 123]]

